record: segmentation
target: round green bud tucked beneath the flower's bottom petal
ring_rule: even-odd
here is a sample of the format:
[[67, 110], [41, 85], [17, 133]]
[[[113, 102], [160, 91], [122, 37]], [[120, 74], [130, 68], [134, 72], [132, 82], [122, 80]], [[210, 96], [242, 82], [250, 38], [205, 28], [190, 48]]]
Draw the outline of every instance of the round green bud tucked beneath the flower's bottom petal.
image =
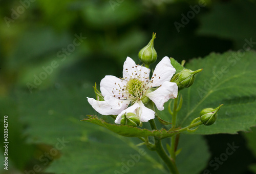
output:
[[121, 124], [129, 126], [140, 126], [142, 122], [134, 113], [125, 113], [121, 116]]

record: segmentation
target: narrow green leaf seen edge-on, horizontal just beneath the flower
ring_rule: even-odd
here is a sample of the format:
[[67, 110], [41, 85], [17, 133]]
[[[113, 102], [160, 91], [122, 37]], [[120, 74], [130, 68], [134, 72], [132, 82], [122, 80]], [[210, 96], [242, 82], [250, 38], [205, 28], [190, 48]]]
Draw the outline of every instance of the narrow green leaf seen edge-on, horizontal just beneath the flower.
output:
[[91, 122], [97, 125], [100, 125], [102, 127], [105, 127], [112, 132], [125, 136], [125, 137], [148, 137], [148, 136], [155, 136], [159, 139], [171, 137], [174, 134], [177, 134], [177, 132], [170, 132], [168, 133], [166, 129], [162, 128], [160, 130], [148, 130], [148, 129], [141, 129], [138, 127], [133, 126], [127, 126], [127, 125], [116, 125], [116, 124], [110, 124], [105, 122], [102, 119], [99, 119], [97, 116], [90, 116], [88, 115], [87, 119], [84, 119], [82, 121]]

